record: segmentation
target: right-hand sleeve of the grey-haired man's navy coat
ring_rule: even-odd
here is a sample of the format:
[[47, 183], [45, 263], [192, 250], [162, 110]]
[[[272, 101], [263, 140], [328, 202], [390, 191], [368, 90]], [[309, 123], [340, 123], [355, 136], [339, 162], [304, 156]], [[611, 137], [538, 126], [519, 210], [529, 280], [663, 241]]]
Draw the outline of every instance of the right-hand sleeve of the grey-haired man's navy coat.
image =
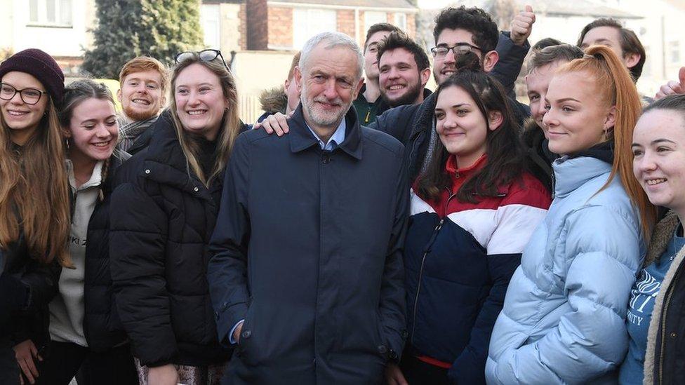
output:
[[380, 288], [380, 320], [385, 332], [387, 347], [392, 349], [398, 356], [390, 357], [399, 359], [404, 349], [406, 339], [406, 292], [404, 290], [404, 262], [402, 252], [404, 249], [404, 237], [406, 236], [409, 189], [407, 188], [407, 173], [402, 154], [397, 159], [399, 174], [397, 175], [397, 187], [394, 196], [394, 219], [392, 234], [388, 243], [387, 255], [385, 256], [385, 269]]

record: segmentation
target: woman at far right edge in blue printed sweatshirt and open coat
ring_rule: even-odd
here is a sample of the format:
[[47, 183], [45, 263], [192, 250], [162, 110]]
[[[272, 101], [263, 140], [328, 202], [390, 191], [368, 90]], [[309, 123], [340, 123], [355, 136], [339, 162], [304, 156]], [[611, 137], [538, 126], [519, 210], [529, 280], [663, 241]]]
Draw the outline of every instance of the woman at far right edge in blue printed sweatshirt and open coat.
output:
[[[649, 201], [671, 210], [654, 228], [628, 302], [622, 384], [682, 384], [685, 360], [685, 95], [644, 110], [632, 140], [633, 172]], [[643, 381], [644, 377], [644, 381]]]

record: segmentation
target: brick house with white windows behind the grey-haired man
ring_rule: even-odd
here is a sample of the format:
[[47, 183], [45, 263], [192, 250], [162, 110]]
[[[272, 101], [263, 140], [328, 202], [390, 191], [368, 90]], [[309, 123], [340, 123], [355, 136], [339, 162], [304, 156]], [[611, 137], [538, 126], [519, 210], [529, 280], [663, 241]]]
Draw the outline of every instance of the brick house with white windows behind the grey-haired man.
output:
[[364, 43], [366, 29], [390, 22], [415, 36], [418, 9], [408, 0], [249, 0], [248, 50], [299, 50], [314, 34], [338, 31]]

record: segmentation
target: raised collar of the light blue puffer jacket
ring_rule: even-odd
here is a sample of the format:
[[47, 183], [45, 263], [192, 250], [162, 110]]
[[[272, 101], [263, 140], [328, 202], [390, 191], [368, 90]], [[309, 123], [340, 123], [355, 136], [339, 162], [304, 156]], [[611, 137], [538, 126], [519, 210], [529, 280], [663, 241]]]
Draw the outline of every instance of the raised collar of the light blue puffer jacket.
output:
[[611, 164], [590, 156], [569, 158], [564, 155], [552, 163], [554, 196], [563, 197], [599, 175], [611, 173]]

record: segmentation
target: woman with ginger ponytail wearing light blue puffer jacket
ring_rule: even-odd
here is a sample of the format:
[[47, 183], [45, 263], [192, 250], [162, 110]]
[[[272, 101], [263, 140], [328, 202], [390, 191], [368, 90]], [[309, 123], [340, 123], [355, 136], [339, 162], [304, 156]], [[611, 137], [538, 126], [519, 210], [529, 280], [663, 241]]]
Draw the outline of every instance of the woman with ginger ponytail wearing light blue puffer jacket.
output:
[[554, 201], [521, 257], [498, 316], [486, 377], [495, 384], [616, 381], [625, 313], [655, 212], [632, 177], [641, 111], [610, 48], [562, 65], [547, 90]]

